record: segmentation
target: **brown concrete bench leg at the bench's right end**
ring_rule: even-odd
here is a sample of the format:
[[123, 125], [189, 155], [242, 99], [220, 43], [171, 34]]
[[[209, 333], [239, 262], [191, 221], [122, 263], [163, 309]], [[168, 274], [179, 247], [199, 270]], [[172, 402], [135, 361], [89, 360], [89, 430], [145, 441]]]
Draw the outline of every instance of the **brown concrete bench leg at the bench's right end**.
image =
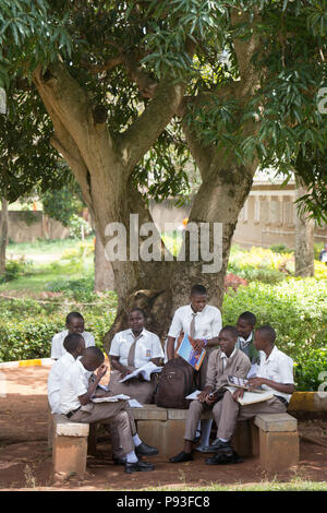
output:
[[298, 431], [272, 431], [259, 429], [261, 466], [268, 472], [280, 472], [299, 464]]

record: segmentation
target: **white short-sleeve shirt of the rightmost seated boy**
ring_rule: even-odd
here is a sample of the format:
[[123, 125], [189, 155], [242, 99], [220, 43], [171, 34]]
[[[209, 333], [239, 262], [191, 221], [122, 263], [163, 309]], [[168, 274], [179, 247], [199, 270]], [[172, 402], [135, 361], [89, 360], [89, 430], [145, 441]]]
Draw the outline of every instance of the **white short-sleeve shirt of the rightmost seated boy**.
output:
[[[257, 378], [266, 378], [267, 380], [276, 381], [276, 383], [293, 384], [293, 360], [274, 346], [268, 358], [265, 353], [261, 351], [261, 363], [256, 375]], [[274, 395], [284, 397], [288, 402], [290, 402], [292, 396], [292, 394], [278, 392], [265, 384], [263, 384], [263, 389], [271, 391]]]

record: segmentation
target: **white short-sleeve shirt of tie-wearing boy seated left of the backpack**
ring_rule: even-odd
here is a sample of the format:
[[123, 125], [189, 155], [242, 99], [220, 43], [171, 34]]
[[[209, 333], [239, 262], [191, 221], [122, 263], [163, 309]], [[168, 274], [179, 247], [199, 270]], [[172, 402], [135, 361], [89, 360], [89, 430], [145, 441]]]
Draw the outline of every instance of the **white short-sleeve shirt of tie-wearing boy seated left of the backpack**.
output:
[[[128, 366], [128, 358], [131, 346], [134, 342], [132, 330], [124, 330], [114, 335], [111, 342], [109, 356], [119, 357], [122, 366]], [[160, 338], [155, 333], [143, 329], [141, 337], [135, 346], [135, 367], [142, 367], [153, 358], [164, 358], [164, 350]]]

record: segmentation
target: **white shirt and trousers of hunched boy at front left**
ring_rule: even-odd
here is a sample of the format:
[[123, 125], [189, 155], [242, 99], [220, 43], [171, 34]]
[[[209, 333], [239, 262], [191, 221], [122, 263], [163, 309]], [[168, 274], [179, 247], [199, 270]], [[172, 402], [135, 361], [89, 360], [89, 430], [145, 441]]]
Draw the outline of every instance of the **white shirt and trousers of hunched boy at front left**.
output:
[[89, 371], [81, 360], [72, 363], [62, 377], [60, 390], [60, 413], [73, 422], [108, 423], [119, 436], [119, 445], [122, 453], [134, 451], [132, 437], [136, 433], [135, 422], [125, 407], [126, 401], [116, 403], [93, 403], [81, 405], [78, 397], [88, 390]]

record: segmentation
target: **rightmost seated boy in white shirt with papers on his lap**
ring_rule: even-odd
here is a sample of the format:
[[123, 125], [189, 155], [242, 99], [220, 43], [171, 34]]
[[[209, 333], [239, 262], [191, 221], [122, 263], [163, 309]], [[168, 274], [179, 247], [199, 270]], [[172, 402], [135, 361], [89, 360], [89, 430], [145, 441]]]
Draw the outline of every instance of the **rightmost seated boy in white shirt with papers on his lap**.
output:
[[[230, 440], [237, 420], [245, 420], [257, 414], [280, 414], [287, 411], [290, 398], [294, 392], [293, 360], [275, 346], [276, 332], [269, 326], [261, 326], [255, 331], [254, 345], [261, 354], [261, 363], [255, 378], [250, 379], [253, 389], [262, 386], [274, 393], [274, 397], [261, 403], [240, 406], [238, 398], [244, 394], [238, 389], [233, 395], [226, 392], [222, 399], [217, 440], [209, 446], [216, 455], [208, 458], [208, 465], [221, 463], [221, 457], [231, 457]], [[264, 355], [264, 356], [263, 356]], [[208, 452], [208, 451], [206, 451]]]

